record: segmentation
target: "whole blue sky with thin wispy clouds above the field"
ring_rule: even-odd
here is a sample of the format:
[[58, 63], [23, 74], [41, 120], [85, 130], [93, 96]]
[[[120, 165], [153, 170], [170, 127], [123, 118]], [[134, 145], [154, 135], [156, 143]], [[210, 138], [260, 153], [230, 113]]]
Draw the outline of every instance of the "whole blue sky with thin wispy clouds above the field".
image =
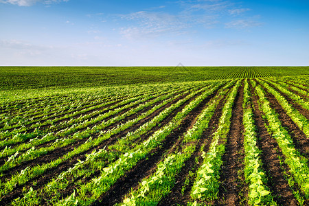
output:
[[0, 0], [0, 65], [309, 65], [308, 0]]

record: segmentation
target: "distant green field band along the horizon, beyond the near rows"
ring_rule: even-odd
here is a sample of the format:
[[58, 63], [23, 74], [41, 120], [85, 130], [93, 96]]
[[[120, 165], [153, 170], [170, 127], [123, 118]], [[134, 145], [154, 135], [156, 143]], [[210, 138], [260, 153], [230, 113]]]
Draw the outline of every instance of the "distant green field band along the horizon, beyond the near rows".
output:
[[309, 67], [0, 67], [0, 90], [309, 75]]

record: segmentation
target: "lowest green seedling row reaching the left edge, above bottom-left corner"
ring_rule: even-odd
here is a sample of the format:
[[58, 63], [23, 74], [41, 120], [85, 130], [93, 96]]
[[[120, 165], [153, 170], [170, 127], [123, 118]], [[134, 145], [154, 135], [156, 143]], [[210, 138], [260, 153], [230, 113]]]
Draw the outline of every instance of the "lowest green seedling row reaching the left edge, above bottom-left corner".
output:
[[[196, 93], [199, 93], [199, 92], [204, 91], [204, 90], [205, 90], [205, 88], [200, 89], [199, 91], [196, 91]], [[167, 102], [165, 102], [165, 104], [167, 104]], [[56, 166], [58, 166], [63, 161], [68, 161], [72, 157], [74, 157], [74, 156], [76, 156], [76, 155], [78, 155], [82, 152], [85, 152], [87, 150], [90, 150], [91, 148], [94, 148], [95, 146], [100, 145], [102, 143], [102, 141], [109, 139], [112, 135], [115, 135], [115, 134], [121, 132], [122, 130], [130, 128], [130, 126], [133, 126], [134, 124], [139, 122], [141, 119], [144, 119], [145, 117], [147, 117], [151, 113], [155, 112], [159, 107], [161, 107], [161, 105], [155, 106], [154, 108], [150, 109], [146, 113], [139, 115], [139, 117], [137, 117], [136, 119], [132, 119], [132, 120], [126, 122], [125, 124], [121, 124], [121, 125], [113, 128], [113, 129], [111, 129], [111, 130], [102, 132], [97, 139], [91, 138], [91, 133], [90, 133], [91, 131], [84, 131], [82, 133], [79, 133], [76, 136], [82, 137], [82, 138], [89, 138], [86, 143], [78, 146], [77, 148], [75, 148], [71, 152], [67, 153], [67, 155], [59, 157], [58, 159], [56, 159], [54, 161], [51, 161], [49, 163], [43, 163], [42, 165], [37, 165], [33, 168], [25, 168], [25, 170], [22, 170], [19, 174], [15, 174], [14, 176], [12, 176], [12, 179], [10, 179], [10, 181], [7, 181], [5, 183], [1, 183], [1, 185], [0, 185], [1, 196], [8, 194], [8, 192], [12, 191], [14, 189], [14, 187], [16, 187], [16, 185], [23, 185], [23, 184], [27, 183], [27, 181], [29, 181], [30, 179], [34, 178], [35, 176], [39, 176], [39, 175], [43, 174], [47, 169], [56, 168]], [[100, 127], [96, 128], [96, 130], [101, 130], [101, 129], [102, 128], [100, 128]]]

